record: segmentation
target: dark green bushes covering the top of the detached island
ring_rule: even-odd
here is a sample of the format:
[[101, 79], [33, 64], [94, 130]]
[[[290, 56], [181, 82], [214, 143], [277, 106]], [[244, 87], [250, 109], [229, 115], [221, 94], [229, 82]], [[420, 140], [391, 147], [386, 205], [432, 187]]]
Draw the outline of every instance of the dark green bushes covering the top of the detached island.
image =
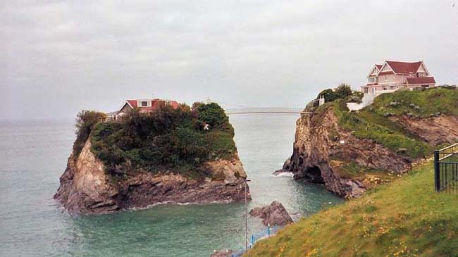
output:
[[[95, 115], [85, 112], [82, 116], [89, 114]], [[132, 170], [172, 170], [190, 177], [208, 177], [211, 174], [200, 169], [202, 163], [233, 158], [237, 151], [228, 116], [215, 103], [163, 107], [147, 114], [134, 110], [123, 122], [78, 128], [77, 142], [84, 142], [90, 134], [92, 152], [104, 162], [107, 173], [118, 177]]]

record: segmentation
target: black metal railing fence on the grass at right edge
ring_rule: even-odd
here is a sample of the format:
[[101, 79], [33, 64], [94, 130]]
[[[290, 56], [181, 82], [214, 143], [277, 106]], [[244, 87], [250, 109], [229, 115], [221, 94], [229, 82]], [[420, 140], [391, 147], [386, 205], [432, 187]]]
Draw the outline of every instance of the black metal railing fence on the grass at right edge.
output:
[[458, 193], [458, 143], [434, 151], [434, 187]]

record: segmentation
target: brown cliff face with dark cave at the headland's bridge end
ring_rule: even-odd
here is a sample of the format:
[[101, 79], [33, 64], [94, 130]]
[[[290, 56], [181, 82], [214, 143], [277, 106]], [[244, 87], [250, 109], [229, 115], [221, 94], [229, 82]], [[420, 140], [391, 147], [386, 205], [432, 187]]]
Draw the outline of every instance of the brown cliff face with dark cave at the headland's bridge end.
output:
[[[335, 135], [339, 135], [338, 139]], [[338, 125], [332, 108], [322, 113], [302, 115], [296, 123], [293, 153], [283, 170], [295, 179], [325, 184], [338, 196], [361, 196], [364, 184], [344, 177], [329, 165], [330, 159], [351, 160], [361, 166], [400, 172], [411, 165], [411, 159], [400, 156], [369, 139], [359, 139]]]

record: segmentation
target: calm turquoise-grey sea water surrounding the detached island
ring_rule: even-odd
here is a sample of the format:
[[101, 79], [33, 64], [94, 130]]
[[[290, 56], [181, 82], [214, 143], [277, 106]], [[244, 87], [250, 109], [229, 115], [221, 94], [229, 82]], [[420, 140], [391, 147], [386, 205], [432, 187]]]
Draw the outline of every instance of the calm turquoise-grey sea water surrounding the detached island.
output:
[[[273, 177], [292, 152], [297, 115], [233, 115], [249, 208], [278, 200], [309, 215], [342, 200], [319, 185]], [[155, 206], [68, 215], [52, 199], [74, 140], [73, 120], [0, 122], [0, 256], [209, 256], [244, 245], [242, 203]], [[265, 227], [249, 218], [249, 230]]]

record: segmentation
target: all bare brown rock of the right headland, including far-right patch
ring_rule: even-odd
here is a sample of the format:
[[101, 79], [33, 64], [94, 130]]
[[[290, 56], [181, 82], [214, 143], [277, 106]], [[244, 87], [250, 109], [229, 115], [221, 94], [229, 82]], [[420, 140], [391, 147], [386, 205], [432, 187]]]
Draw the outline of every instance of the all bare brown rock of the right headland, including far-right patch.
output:
[[[354, 131], [339, 125], [333, 108], [335, 106], [326, 106], [324, 111], [303, 114], [297, 120], [293, 153], [283, 165], [283, 170], [292, 172], [295, 179], [325, 184], [326, 189], [338, 196], [357, 197], [371, 187], [371, 177], [342, 174], [339, 160], [371, 170], [384, 170], [393, 176], [409, 170], [411, 163], [416, 161], [400, 153], [403, 149], [392, 151], [371, 139], [355, 137]], [[430, 146], [458, 139], [458, 118], [452, 115], [431, 118], [400, 115], [389, 120], [402, 125]]]

